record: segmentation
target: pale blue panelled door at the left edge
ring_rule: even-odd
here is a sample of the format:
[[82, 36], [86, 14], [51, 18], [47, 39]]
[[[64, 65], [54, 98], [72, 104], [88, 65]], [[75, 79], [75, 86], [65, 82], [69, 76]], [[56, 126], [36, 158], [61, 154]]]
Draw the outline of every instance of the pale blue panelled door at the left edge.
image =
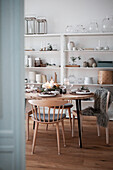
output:
[[25, 169], [24, 0], [0, 0], [0, 170]]

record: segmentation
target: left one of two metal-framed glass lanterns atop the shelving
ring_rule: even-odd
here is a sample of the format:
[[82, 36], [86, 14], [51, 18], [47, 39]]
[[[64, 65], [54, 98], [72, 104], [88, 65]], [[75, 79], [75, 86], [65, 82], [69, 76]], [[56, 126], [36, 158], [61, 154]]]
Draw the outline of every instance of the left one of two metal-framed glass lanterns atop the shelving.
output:
[[36, 18], [25, 17], [25, 34], [35, 34], [35, 33], [36, 33]]

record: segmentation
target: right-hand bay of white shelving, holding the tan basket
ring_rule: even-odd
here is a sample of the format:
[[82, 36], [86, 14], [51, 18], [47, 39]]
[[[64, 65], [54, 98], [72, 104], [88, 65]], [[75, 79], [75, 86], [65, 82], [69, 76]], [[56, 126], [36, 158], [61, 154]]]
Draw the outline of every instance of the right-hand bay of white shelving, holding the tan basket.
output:
[[[98, 46], [98, 41], [100, 40], [101, 46], [109, 46], [109, 50], [96, 50]], [[68, 42], [73, 41], [75, 43], [75, 47], [77, 46], [80, 50], [68, 50], [67, 44]], [[69, 76], [82, 78], [84, 77], [93, 77], [94, 84], [88, 84], [89, 88], [96, 87], [113, 87], [112, 84], [98, 84], [97, 77], [99, 70], [111, 70], [113, 71], [113, 67], [82, 67], [84, 61], [88, 61], [89, 58], [94, 58], [96, 61], [113, 61], [113, 32], [110, 33], [64, 33], [63, 34], [63, 68], [64, 74], [63, 79], [68, 78]], [[85, 48], [94, 48], [94, 50], [82, 50]], [[80, 65], [80, 67], [66, 67], [69, 65], [70, 57], [80, 56], [81, 60], [77, 61], [76, 64]], [[78, 88], [78, 86], [83, 86], [84, 83], [73, 83], [74, 86]], [[75, 87], [75, 88], [76, 88]]]

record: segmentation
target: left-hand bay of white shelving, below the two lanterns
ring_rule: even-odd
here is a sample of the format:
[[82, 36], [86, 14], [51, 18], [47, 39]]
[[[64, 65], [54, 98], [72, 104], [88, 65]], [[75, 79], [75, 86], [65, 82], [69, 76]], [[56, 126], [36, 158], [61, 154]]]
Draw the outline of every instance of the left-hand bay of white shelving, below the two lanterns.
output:
[[[47, 43], [50, 43], [52, 46], [56, 45], [57, 50], [52, 51], [40, 51], [42, 44], [47, 46]], [[35, 50], [29, 50], [35, 49]], [[61, 83], [61, 34], [33, 34], [33, 35], [25, 35], [25, 55], [30, 55], [33, 60], [38, 57], [41, 58], [45, 63], [49, 63], [51, 65], [56, 64], [56, 66], [47, 66], [47, 67], [25, 67], [26, 70], [26, 78], [29, 80], [29, 72], [34, 71], [37, 74], [45, 74], [47, 75], [47, 80], [50, 81], [50, 78], [54, 78], [54, 73], [57, 73], [57, 81]], [[26, 84], [34, 84], [37, 83], [28, 83]], [[41, 85], [42, 83], [38, 83]]]

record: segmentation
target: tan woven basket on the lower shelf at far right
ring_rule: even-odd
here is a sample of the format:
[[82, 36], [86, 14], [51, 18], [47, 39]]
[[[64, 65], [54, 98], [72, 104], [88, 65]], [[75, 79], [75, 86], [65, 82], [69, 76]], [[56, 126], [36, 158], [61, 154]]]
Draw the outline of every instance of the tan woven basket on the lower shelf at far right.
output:
[[113, 84], [113, 72], [112, 71], [99, 71], [98, 72], [98, 84]]

